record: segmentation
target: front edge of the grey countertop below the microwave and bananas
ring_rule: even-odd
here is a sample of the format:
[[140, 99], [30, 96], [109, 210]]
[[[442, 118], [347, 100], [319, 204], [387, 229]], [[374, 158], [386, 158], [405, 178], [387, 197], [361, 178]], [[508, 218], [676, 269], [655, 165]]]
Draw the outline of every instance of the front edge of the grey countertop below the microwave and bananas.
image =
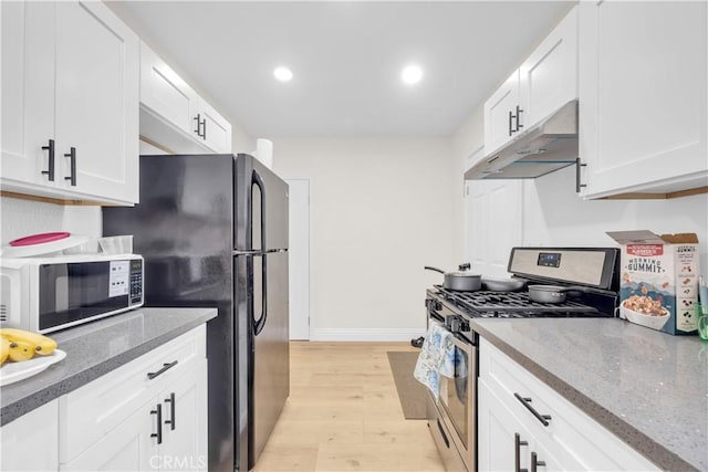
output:
[[66, 395], [71, 391], [74, 391], [84, 385], [88, 384], [97, 379], [98, 377], [108, 374], [112, 370], [134, 360], [142, 355], [159, 347], [160, 345], [171, 340], [197, 326], [207, 323], [209, 319], [217, 316], [217, 311], [209, 310], [206, 311], [204, 315], [197, 316], [189, 322], [167, 331], [162, 335], [134, 347], [133, 349], [121, 353], [114, 357], [111, 357], [107, 360], [104, 360], [95, 366], [92, 366], [85, 370], [75, 373], [70, 377], [65, 377], [62, 380], [49, 385], [42, 390], [30, 394], [25, 397], [13, 401], [12, 403], [4, 405], [0, 410], [0, 427], [9, 424], [15, 419], [22, 417], [23, 415], [29, 413], [30, 411], [49, 403], [50, 401], [61, 397], [62, 395]]

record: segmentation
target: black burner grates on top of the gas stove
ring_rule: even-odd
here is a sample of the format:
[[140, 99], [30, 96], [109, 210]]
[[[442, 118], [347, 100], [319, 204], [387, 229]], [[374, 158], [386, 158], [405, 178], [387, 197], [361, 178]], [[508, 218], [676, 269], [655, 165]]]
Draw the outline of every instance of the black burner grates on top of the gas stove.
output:
[[597, 310], [582, 303], [539, 303], [529, 298], [527, 292], [458, 292], [436, 285], [438, 294], [472, 312], [476, 316], [553, 316], [571, 314], [596, 314]]

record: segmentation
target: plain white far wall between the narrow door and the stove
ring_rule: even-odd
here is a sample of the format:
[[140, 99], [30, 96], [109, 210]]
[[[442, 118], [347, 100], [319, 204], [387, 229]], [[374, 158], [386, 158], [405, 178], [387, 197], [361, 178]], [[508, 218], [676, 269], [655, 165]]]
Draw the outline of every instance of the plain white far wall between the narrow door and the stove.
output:
[[310, 179], [311, 337], [425, 331], [424, 265], [451, 260], [449, 139], [275, 139], [273, 167]]

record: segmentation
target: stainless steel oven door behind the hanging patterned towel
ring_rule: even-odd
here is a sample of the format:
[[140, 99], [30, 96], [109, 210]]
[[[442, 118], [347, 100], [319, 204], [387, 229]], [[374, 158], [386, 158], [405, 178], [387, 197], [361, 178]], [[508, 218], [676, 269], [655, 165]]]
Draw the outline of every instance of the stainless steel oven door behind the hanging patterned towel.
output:
[[455, 375], [440, 376], [440, 413], [467, 470], [476, 465], [477, 346], [456, 334]]

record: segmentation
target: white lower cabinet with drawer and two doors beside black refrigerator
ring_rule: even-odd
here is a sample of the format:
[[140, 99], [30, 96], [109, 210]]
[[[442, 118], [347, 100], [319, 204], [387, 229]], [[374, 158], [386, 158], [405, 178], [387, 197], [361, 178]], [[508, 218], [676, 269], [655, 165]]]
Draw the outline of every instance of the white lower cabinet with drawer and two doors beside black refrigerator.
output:
[[60, 470], [206, 470], [205, 325], [60, 398]]

